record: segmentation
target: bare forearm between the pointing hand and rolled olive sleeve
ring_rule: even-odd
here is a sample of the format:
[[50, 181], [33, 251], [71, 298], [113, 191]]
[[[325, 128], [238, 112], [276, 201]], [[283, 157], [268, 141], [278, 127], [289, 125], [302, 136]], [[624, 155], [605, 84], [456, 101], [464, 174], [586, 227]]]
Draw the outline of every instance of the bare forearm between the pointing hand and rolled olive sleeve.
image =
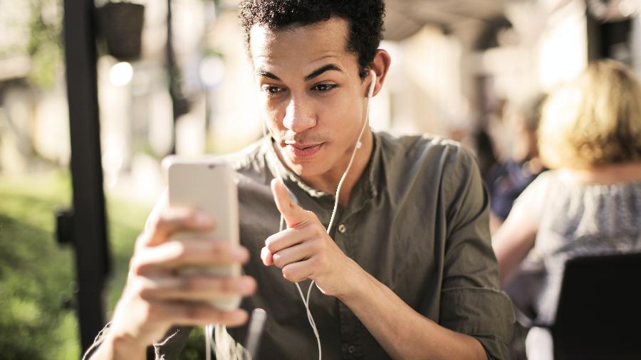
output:
[[474, 337], [441, 327], [415, 312], [365, 270], [360, 269], [360, 274], [353, 280], [354, 291], [339, 300], [394, 359], [486, 359]]

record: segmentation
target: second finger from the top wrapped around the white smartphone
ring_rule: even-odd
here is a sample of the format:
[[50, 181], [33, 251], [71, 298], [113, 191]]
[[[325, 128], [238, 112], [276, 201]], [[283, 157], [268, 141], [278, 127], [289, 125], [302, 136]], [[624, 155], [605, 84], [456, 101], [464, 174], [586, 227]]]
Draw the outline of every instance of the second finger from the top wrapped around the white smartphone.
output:
[[231, 245], [226, 241], [170, 240], [136, 255], [132, 261], [132, 271], [145, 274], [186, 265], [217, 266], [245, 263], [247, 260], [249, 260], [249, 251], [246, 248]]

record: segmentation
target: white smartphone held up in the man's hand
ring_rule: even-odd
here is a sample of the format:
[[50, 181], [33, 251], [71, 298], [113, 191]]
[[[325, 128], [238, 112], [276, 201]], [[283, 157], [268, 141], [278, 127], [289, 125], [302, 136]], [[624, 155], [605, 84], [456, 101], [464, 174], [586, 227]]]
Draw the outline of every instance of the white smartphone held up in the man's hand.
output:
[[[231, 166], [221, 159], [191, 159], [165, 157], [162, 166], [167, 174], [169, 205], [194, 208], [206, 213], [216, 223], [209, 232], [182, 232], [173, 238], [212, 239], [239, 244], [238, 189]], [[186, 274], [239, 276], [240, 264], [219, 266], [189, 266], [179, 270]], [[219, 309], [239, 307], [241, 297], [234, 295], [212, 300]]]

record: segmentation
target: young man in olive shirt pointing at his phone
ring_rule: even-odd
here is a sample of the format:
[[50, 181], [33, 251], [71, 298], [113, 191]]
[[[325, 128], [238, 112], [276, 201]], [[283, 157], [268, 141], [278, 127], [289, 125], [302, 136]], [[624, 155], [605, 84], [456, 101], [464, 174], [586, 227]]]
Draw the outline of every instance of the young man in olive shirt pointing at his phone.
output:
[[[314, 359], [316, 338], [293, 284], [306, 290], [310, 280], [324, 359], [502, 358], [512, 309], [497, 290], [488, 199], [474, 160], [457, 144], [365, 127], [325, 233], [368, 121], [370, 70], [376, 94], [390, 67], [390, 55], [377, 49], [382, 1], [243, 0], [240, 12], [270, 132], [229, 157], [244, 247], [169, 240], [180, 229], [214, 225], [161, 201], [92, 359], [142, 359], [154, 342], [162, 342], [157, 355], [177, 359], [187, 331], [167, 333], [172, 325], [246, 322], [244, 310], [197, 301], [229, 293], [253, 294], [244, 309], [266, 309], [260, 359]], [[244, 262], [246, 275], [172, 271], [232, 262]], [[242, 340], [246, 329], [229, 332]]]

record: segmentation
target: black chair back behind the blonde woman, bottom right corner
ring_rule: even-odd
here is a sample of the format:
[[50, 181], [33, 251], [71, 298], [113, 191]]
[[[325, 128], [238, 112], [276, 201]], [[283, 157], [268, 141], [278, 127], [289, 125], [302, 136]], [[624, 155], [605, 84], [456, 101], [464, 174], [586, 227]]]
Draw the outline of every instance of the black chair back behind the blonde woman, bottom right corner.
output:
[[641, 253], [568, 260], [554, 359], [641, 359]]

